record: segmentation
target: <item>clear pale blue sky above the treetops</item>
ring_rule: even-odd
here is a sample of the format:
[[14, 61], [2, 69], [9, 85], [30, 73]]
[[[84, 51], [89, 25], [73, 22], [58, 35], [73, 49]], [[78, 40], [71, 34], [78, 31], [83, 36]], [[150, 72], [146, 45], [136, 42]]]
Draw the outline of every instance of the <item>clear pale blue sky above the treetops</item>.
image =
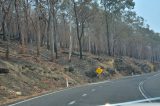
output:
[[134, 0], [135, 11], [150, 25], [150, 29], [160, 33], [160, 0]]

